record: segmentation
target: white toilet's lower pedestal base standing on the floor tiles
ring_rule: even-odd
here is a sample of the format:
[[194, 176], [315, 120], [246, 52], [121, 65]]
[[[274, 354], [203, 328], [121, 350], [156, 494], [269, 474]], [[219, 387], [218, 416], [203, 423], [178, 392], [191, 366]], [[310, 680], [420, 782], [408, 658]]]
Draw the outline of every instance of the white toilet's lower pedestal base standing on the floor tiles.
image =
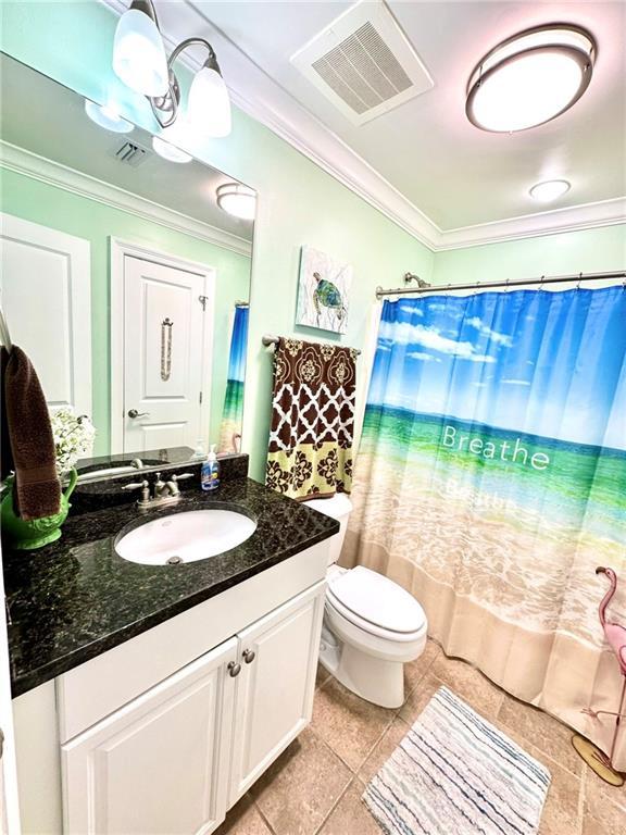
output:
[[404, 703], [404, 664], [366, 655], [349, 644], [339, 644], [331, 635], [322, 636], [320, 663], [356, 696], [381, 708]]

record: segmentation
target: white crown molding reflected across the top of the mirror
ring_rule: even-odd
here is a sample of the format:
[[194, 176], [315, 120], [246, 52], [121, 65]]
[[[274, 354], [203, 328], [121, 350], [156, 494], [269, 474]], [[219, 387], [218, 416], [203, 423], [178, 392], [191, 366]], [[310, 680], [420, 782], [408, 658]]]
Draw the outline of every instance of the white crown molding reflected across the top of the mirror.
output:
[[158, 223], [160, 226], [228, 249], [239, 256], [252, 257], [252, 244], [245, 238], [10, 142], [0, 141], [0, 166], [88, 200], [96, 200], [113, 209], [129, 212], [145, 221]]

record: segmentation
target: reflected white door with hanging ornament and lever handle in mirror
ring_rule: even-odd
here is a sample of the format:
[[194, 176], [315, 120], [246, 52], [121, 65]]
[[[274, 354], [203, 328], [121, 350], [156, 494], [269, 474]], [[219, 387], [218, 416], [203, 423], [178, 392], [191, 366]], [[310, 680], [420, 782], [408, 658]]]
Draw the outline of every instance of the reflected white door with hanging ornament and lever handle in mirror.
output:
[[124, 257], [125, 452], [195, 447], [203, 435], [205, 281], [188, 270]]

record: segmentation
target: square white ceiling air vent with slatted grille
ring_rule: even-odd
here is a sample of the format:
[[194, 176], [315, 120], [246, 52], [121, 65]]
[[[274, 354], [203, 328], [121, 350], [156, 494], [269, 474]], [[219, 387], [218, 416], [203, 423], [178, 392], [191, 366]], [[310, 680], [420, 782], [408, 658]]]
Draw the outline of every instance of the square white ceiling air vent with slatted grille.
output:
[[356, 125], [434, 86], [389, 9], [371, 0], [333, 21], [291, 63]]

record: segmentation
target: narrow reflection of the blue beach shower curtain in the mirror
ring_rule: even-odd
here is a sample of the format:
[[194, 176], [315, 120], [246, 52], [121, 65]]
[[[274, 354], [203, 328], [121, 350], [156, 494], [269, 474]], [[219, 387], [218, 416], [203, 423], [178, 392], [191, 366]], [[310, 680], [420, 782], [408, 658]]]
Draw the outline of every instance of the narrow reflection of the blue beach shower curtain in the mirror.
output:
[[237, 304], [230, 335], [228, 379], [222, 410], [220, 452], [239, 451], [243, 419], [243, 381], [246, 379], [246, 348], [248, 345], [248, 307]]

